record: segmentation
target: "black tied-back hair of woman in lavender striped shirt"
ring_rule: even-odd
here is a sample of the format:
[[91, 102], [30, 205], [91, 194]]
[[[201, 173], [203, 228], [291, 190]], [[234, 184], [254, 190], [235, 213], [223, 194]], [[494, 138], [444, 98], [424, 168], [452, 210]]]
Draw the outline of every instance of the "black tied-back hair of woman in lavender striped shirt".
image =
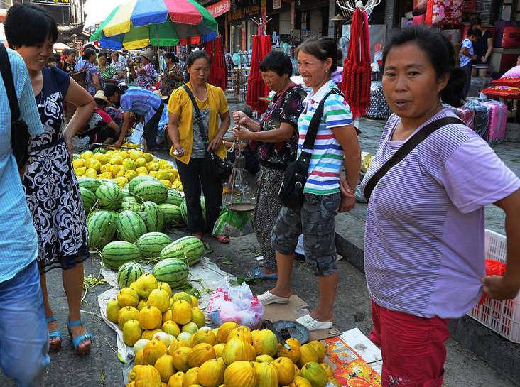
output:
[[453, 107], [462, 106], [466, 73], [460, 67], [455, 66], [455, 49], [450, 40], [443, 33], [423, 26], [409, 26], [394, 30], [384, 45], [383, 68], [389, 52], [396, 46], [406, 43], [415, 43], [418, 48], [426, 53], [437, 77], [442, 77], [443, 75], [450, 77], [448, 84], [440, 92], [440, 98], [443, 102]]

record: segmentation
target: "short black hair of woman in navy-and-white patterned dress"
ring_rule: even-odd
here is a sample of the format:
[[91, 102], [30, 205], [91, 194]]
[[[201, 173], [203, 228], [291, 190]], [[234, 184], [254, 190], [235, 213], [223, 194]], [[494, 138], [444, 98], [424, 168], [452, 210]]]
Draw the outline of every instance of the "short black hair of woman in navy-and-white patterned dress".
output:
[[58, 40], [58, 26], [53, 16], [34, 4], [11, 6], [4, 21], [4, 30], [11, 48], [37, 45], [46, 38], [53, 43]]

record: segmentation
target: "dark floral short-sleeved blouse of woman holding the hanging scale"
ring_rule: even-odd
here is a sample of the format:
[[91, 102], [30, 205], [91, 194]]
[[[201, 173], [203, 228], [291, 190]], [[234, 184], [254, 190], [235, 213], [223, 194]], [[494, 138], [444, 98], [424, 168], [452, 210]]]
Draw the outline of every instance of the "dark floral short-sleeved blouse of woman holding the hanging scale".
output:
[[277, 129], [282, 122], [291, 124], [295, 130], [291, 138], [281, 143], [251, 141], [251, 149], [256, 150], [260, 160], [280, 165], [281, 167], [296, 160], [298, 117], [303, 111], [302, 102], [305, 96], [305, 91], [300, 86], [293, 85], [280, 96], [273, 97], [273, 100], [267, 107], [264, 118], [260, 121], [260, 130], [269, 131]]

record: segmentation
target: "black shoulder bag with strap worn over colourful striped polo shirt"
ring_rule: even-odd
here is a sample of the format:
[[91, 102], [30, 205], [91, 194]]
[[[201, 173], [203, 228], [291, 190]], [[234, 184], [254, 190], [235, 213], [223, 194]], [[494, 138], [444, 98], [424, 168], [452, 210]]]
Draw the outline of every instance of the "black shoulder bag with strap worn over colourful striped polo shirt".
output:
[[310, 119], [300, 156], [296, 161], [288, 163], [287, 165], [286, 171], [283, 174], [283, 182], [278, 191], [278, 198], [285, 207], [298, 210], [303, 205], [303, 188], [305, 187], [305, 182], [307, 182], [310, 158], [313, 156], [314, 142], [316, 141], [318, 127], [320, 126], [321, 117], [323, 116], [323, 106], [330, 94], [339, 93], [338, 90], [332, 89], [320, 101], [314, 111], [313, 118]]

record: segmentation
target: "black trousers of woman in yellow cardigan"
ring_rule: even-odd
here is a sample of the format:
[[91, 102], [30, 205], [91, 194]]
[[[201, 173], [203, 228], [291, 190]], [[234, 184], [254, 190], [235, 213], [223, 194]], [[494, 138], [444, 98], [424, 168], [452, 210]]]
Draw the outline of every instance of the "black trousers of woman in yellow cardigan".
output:
[[[205, 162], [206, 160], [203, 158], [190, 158], [188, 164], [177, 162], [188, 209], [188, 230], [190, 232], [206, 230], [212, 232], [220, 214], [220, 207], [222, 207], [222, 181], [206, 172]], [[206, 203], [207, 224], [204, 224], [200, 207], [201, 187]]]

